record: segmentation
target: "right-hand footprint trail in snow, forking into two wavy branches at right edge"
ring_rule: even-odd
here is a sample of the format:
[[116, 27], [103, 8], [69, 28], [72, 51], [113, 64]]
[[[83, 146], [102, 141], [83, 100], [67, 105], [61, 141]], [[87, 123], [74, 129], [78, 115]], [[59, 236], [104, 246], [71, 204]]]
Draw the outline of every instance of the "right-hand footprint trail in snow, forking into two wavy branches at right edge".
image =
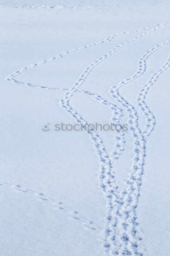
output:
[[[127, 180], [127, 188], [123, 191], [121, 200], [123, 201], [123, 205], [117, 208], [116, 215], [119, 218], [116, 218], [116, 222], [112, 223], [111, 226], [115, 227], [119, 225], [119, 230], [117, 232], [117, 236], [115, 238], [115, 230], [110, 233], [110, 237], [114, 236], [114, 248], [110, 248], [115, 255], [130, 255], [132, 253], [131, 249], [134, 253], [137, 254], [138, 243], [137, 240], [141, 240], [138, 232], [136, 222], [136, 207], [138, 205], [138, 197], [140, 195], [140, 186], [141, 186], [141, 177], [144, 172], [143, 165], [144, 159], [146, 155], [146, 139], [145, 136], [149, 136], [150, 132], [154, 128], [155, 119], [153, 118], [153, 114], [146, 106], [144, 102], [144, 98], [146, 96], [149, 87], [157, 80], [159, 75], [169, 67], [169, 60], [166, 61], [165, 65], [157, 71], [152, 78], [148, 81], [146, 85], [144, 85], [143, 89], [141, 89], [141, 93], [139, 94], [138, 104], [141, 106], [144, 115], [147, 117], [147, 128], [144, 131], [141, 131], [138, 124], [138, 114], [135, 110], [134, 106], [129, 104], [118, 92], [119, 88], [123, 85], [129, 83], [130, 81], [138, 78], [145, 72], [146, 69], [146, 60], [147, 58], [160, 47], [169, 44], [170, 40], [167, 40], [160, 45], [156, 45], [151, 48], [149, 51], [145, 52], [144, 55], [138, 61], [138, 71], [133, 74], [130, 78], [125, 79], [123, 82], [119, 83], [117, 86], [111, 88], [111, 93], [114, 98], [118, 102], [121, 102], [123, 106], [127, 108], [129, 112], [129, 123], [130, 129], [133, 132], [134, 144], [135, 144], [135, 156], [134, 156], [134, 164], [132, 166], [132, 173]], [[114, 88], [114, 89], [113, 89]], [[148, 127], [150, 128], [148, 130]], [[147, 132], [148, 131], [148, 132]], [[119, 221], [117, 221], [119, 220]], [[122, 232], [120, 232], [122, 230]], [[114, 233], [114, 235], [113, 235]], [[138, 238], [138, 239], [137, 239]], [[120, 246], [116, 246], [119, 244]], [[123, 245], [124, 244], [124, 245]], [[122, 248], [123, 245], [123, 248]], [[115, 246], [117, 249], [115, 250]], [[142, 254], [141, 254], [142, 255]]]

